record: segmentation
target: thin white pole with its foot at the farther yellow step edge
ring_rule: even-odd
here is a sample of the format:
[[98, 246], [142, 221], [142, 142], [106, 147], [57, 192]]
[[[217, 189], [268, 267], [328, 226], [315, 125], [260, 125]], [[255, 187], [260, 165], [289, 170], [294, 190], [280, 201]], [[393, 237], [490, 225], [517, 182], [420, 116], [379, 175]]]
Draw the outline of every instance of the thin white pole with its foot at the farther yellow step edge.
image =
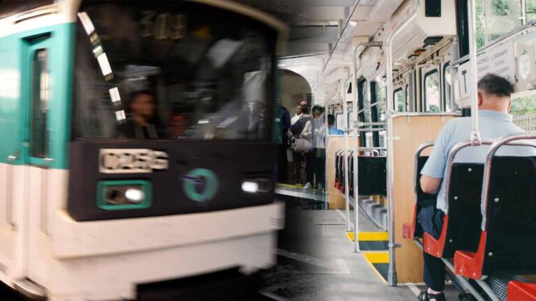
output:
[[359, 186], [358, 184], [358, 170], [357, 170], [357, 160], [359, 157], [359, 131], [357, 130], [358, 123], [358, 100], [359, 100], [359, 90], [357, 89], [357, 48], [354, 49], [354, 55], [352, 56], [353, 63], [353, 72], [352, 72], [352, 91], [354, 91], [354, 99], [352, 100], [352, 107], [354, 114], [352, 114], [352, 128], [354, 128], [354, 211], [355, 211], [355, 227], [354, 227], [354, 252], [359, 252]]

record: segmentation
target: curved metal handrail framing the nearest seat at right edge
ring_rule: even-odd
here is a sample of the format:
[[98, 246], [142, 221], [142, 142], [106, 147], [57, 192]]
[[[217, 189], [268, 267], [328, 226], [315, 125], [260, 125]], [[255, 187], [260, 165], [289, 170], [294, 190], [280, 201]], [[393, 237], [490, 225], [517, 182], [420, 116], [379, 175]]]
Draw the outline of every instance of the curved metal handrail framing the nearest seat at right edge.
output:
[[[503, 137], [500, 137], [497, 141], [491, 144], [489, 148], [488, 155], [486, 156], [486, 162], [484, 163], [484, 179], [482, 180], [482, 198], [481, 208], [482, 211], [482, 231], [486, 229], [487, 223], [487, 210], [488, 210], [488, 198], [489, 198], [489, 181], [491, 178], [491, 167], [493, 162], [493, 157], [497, 153], [498, 149], [505, 144], [508, 144], [511, 141], [517, 140], [529, 140], [536, 139], [536, 132], [526, 132], [523, 134], [507, 134]], [[533, 145], [531, 145], [533, 146]]]

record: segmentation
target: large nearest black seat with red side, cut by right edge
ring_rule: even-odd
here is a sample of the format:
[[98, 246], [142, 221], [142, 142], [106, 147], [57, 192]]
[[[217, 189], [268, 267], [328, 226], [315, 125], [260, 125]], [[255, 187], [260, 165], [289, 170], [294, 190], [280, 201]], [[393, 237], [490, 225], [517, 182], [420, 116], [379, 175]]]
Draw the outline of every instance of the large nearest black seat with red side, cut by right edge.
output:
[[[456, 274], [536, 273], [536, 157], [493, 157], [486, 221], [476, 252], [457, 251]], [[483, 205], [484, 206], [484, 205]]]

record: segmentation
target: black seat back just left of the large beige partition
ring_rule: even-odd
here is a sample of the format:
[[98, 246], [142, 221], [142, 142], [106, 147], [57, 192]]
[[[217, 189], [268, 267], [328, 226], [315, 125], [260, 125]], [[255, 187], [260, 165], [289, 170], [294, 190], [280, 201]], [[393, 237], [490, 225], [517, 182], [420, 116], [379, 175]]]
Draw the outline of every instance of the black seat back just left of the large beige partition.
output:
[[387, 195], [386, 157], [359, 157], [357, 168], [359, 195]]

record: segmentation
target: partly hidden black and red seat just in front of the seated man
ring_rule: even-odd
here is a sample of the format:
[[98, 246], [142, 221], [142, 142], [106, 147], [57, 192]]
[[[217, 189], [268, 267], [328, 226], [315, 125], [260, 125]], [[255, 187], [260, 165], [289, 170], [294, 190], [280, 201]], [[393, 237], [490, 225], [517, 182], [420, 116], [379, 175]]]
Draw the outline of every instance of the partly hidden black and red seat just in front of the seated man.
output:
[[420, 152], [416, 155], [416, 166], [415, 166], [415, 178], [413, 186], [415, 187], [415, 209], [413, 210], [413, 219], [412, 223], [403, 224], [403, 238], [413, 239], [422, 237], [422, 227], [419, 222], [417, 222], [417, 215], [422, 207], [425, 206], [435, 206], [435, 200], [437, 199], [437, 194], [425, 194], [421, 189], [421, 183], [419, 179], [421, 178], [421, 170], [424, 167], [424, 164], [428, 160], [428, 156], [420, 156]]

